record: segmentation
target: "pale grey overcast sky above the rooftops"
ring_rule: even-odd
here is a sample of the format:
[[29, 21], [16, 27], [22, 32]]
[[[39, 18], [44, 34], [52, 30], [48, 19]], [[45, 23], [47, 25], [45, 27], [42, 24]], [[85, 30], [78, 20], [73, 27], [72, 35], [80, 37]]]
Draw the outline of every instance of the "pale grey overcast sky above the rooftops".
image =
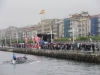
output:
[[100, 14], [100, 0], [0, 0], [0, 29], [36, 25], [44, 19], [39, 14], [43, 9], [45, 19], [68, 18], [81, 11], [95, 15]]

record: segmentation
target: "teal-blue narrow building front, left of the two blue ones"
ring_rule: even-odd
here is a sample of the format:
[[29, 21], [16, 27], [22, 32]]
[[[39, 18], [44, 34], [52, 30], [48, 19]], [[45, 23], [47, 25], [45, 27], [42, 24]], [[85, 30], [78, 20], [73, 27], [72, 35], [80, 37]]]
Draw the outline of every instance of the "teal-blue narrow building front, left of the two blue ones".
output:
[[68, 18], [64, 19], [64, 38], [69, 38], [70, 20]]

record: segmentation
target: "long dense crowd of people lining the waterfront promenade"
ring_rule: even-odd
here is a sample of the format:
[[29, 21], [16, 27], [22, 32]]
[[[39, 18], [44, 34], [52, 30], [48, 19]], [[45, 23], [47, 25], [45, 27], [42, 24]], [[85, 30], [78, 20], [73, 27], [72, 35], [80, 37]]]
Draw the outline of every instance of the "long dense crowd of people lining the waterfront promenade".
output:
[[99, 51], [100, 41], [86, 41], [86, 42], [56, 42], [56, 43], [37, 43], [33, 44], [13, 44], [16, 48], [35, 48], [35, 49], [49, 49], [49, 50], [77, 50], [77, 51]]

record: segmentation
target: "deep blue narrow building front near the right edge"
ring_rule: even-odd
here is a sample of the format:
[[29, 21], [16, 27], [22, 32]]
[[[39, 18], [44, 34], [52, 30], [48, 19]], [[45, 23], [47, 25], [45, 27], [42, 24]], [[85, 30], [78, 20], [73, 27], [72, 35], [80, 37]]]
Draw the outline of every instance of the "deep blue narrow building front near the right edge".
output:
[[98, 35], [98, 17], [91, 17], [91, 36]]

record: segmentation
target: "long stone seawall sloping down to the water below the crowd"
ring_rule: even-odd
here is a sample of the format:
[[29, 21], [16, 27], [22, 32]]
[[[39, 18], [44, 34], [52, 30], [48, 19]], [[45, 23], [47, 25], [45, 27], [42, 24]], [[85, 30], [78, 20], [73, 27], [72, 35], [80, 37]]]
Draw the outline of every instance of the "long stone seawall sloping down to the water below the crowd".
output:
[[100, 52], [80, 52], [80, 51], [64, 51], [64, 50], [42, 50], [29, 48], [2, 48], [1, 51], [32, 54], [39, 56], [54, 57], [60, 59], [68, 59], [90, 63], [100, 63]]

